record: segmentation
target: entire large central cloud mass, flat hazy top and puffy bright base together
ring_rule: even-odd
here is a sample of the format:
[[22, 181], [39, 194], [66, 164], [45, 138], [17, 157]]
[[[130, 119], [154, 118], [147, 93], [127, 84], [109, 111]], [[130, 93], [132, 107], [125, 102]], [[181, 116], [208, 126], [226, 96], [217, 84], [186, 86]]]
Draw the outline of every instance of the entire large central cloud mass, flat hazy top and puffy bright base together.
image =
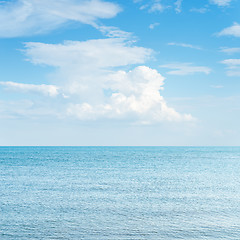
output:
[[63, 44], [26, 43], [25, 54], [34, 64], [55, 67], [52, 74], [61, 94], [64, 113], [80, 120], [122, 119], [150, 124], [191, 121], [167, 106], [160, 91], [164, 78], [143, 64], [152, 50], [110, 38]]

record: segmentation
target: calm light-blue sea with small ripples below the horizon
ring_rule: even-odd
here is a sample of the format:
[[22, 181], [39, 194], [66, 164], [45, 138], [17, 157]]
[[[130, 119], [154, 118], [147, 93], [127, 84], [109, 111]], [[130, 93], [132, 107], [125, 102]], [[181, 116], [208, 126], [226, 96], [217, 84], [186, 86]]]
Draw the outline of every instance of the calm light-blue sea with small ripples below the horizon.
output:
[[239, 147], [0, 147], [1, 240], [240, 239]]

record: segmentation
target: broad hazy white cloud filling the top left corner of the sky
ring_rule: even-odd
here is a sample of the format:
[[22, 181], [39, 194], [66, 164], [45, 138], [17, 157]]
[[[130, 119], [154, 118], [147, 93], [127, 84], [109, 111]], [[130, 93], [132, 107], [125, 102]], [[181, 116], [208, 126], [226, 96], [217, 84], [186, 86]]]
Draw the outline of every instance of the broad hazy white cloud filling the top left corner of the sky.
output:
[[16, 0], [0, 5], [0, 37], [41, 34], [75, 21], [95, 26], [121, 11], [103, 0]]

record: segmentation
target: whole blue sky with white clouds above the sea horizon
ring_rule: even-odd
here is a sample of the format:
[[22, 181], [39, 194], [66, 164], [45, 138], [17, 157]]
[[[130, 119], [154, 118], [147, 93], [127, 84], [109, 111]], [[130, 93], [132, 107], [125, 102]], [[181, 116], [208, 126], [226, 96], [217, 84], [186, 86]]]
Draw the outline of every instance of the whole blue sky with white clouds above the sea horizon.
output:
[[239, 146], [239, 11], [0, 1], [0, 145]]

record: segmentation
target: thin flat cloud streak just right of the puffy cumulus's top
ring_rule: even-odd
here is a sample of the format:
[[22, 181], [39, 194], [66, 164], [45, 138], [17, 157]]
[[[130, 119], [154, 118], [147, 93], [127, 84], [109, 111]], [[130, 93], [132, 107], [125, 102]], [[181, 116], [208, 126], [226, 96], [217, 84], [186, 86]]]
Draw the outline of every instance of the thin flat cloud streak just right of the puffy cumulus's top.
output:
[[175, 69], [167, 72], [171, 75], [191, 75], [195, 73], [209, 74], [211, 69], [204, 66], [192, 66], [192, 63], [170, 63], [161, 65], [161, 68]]

